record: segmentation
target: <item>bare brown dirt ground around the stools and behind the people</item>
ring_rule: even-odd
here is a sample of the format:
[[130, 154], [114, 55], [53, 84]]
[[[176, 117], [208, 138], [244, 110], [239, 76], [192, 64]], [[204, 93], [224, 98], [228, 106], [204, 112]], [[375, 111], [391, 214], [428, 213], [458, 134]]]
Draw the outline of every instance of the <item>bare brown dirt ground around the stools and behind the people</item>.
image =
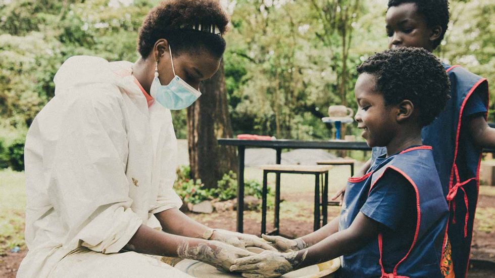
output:
[[[313, 210], [310, 193], [289, 193], [282, 194], [285, 200], [281, 205], [281, 234], [287, 237], [299, 237], [310, 233], [313, 229]], [[296, 203], [297, 202], [297, 203]], [[299, 204], [303, 205], [299, 205]], [[495, 196], [480, 195], [478, 208], [493, 208]], [[338, 207], [329, 207], [329, 219], [338, 214]], [[188, 215], [208, 226], [235, 230], [235, 211], [226, 211], [212, 214], [193, 214]], [[284, 216], [289, 215], [289, 217]], [[491, 216], [491, 219], [493, 216]], [[270, 212], [268, 215], [267, 230], [273, 228], [273, 216]], [[492, 221], [492, 220], [491, 220]], [[479, 221], [478, 221], [479, 222]], [[472, 265], [475, 267], [468, 273], [469, 278], [487, 278], [495, 277], [495, 233], [480, 230], [478, 224], [475, 224], [474, 239], [472, 246]], [[259, 235], [261, 229], [261, 213], [245, 212], [244, 214], [244, 233]], [[0, 257], [0, 277], [14, 278], [22, 258], [26, 255], [26, 250], [19, 253], [8, 253], [7, 256]], [[479, 261], [481, 260], [481, 261]]]

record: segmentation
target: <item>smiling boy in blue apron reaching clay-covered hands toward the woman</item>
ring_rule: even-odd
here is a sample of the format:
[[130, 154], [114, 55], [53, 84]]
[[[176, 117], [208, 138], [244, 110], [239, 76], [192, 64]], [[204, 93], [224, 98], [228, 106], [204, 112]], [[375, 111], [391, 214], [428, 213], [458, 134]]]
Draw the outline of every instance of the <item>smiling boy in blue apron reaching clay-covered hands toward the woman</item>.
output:
[[441, 277], [448, 206], [421, 129], [449, 99], [447, 73], [420, 48], [375, 54], [358, 72], [358, 127], [386, 154], [349, 179], [339, 217], [296, 240], [264, 236], [289, 252], [237, 259], [230, 270], [277, 277], [341, 256], [340, 277]]

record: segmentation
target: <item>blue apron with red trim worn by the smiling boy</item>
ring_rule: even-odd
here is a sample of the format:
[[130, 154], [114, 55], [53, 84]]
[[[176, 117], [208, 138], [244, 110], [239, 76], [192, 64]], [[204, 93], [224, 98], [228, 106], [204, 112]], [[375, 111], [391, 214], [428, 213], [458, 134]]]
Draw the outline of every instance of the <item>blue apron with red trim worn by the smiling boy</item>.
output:
[[[414, 188], [417, 207], [415, 235], [406, 255], [393, 267], [384, 269], [382, 236], [359, 251], [341, 257], [340, 277], [441, 277], [440, 256], [448, 206], [433, 161], [431, 147], [407, 149], [385, 159], [365, 176], [349, 178], [345, 189], [339, 230], [348, 228], [365, 204], [369, 192], [385, 171], [403, 175]], [[390, 265], [390, 263], [386, 263]]]

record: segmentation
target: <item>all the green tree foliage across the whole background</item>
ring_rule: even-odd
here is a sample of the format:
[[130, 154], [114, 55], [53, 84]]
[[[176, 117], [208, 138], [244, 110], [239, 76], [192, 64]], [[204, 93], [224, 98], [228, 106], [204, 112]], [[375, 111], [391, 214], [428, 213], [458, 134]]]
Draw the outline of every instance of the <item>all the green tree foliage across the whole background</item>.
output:
[[[61, 64], [73, 55], [135, 61], [138, 28], [158, 2], [0, 0], [0, 167], [23, 168], [24, 137], [53, 98]], [[387, 0], [222, 3], [232, 13], [224, 63], [234, 132], [331, 138], [321, 117], [329, 105], [356, 109], [355, 67], [387, 47]], [[435, 52], [488, 78], [491, 94], [494, 14], [491, 0], [451, 0], [449, 30]], [[185, 138], [185, 110], [174, 112], [174, 122]], [[353, 125], [346, 132], [357, 133]]]

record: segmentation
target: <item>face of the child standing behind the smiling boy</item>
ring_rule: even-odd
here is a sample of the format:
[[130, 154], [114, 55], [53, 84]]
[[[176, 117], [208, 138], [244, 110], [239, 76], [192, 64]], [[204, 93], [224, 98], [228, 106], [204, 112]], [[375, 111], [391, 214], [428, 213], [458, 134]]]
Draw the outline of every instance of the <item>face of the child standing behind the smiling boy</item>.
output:
[[405, 3], [388, 8], [385, 18], [388, 48], [416, 47], [433, 51], [433, 30], [418, 13], [415, 3]]

